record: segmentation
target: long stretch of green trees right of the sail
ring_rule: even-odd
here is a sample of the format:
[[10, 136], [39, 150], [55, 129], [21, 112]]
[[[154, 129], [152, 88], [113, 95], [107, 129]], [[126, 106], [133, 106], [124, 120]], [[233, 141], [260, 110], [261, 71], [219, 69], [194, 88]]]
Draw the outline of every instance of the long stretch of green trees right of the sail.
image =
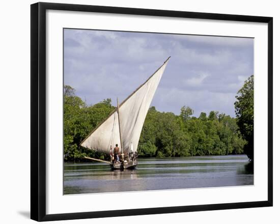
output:
[[[179, 116], [173, 113], [148, 111], [141, 133], [140, 156], [202, 156], [242, 154], [246, 143], [242, 139], [236, 119], [211, 111], [199, 118], [185, 116], [189, 107], [182, 107]], [[147, 147], [151, 148], [151, 151]], [[156, 151], [154, 150], [156, 148]]]

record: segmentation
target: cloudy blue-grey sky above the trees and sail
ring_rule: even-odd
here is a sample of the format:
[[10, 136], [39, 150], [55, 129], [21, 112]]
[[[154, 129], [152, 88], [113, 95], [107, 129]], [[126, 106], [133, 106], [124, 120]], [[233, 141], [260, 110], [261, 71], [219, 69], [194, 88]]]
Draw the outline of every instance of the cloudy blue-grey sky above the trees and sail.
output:
[[236, 93], [254, 73], [253, 38], [64, 29], [64, 84], [89, 105], [116, 106], [169, 56], [151, 106], [235, 117]]

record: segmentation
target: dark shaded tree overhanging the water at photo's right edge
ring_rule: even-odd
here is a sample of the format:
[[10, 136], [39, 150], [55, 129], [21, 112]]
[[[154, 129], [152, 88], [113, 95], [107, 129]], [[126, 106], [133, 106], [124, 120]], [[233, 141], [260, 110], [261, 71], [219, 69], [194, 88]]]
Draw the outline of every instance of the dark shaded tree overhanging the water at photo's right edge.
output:
[[250, 76], [237, 92], [234, 103], [237, 125], [242, 137], [247, 141], [244, 153], [254, 161], [254, 76]]

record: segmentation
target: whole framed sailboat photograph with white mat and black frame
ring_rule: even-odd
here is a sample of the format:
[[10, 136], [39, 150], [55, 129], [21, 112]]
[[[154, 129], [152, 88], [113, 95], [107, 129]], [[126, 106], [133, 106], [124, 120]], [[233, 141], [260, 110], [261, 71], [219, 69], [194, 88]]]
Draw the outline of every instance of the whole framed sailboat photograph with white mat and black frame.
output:
[[272, 206], [272, 21], [31, 5], [31, 218]]

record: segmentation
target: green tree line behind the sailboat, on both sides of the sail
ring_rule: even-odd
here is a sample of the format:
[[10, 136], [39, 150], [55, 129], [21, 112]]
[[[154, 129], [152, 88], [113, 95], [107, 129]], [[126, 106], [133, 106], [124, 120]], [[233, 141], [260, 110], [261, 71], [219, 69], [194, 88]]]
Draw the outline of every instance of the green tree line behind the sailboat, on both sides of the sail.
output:
[[[239, 102], [241, 98], [238, 99]], [[241, 101], [242, 102], [242, 101]], [[236, 108], [239, 106], [236, 104]], [[87, 105], [70, 86], [64, 88], [64, 151], [66, 161], [79, 161], [83, 156], [106, 155], [87, 150], [79, 143], [115, 109], [111, 99]], [[241, 111], [240, 111], [240, 114]], [[183, 106], [180, 115], [148, 111], [138, 144], [139, 157], [173, 157], [242, 154], [247, 141], [241, 136], [238, 122], [229, 115], [211, 111], [194, 117], [190, 107]]]

